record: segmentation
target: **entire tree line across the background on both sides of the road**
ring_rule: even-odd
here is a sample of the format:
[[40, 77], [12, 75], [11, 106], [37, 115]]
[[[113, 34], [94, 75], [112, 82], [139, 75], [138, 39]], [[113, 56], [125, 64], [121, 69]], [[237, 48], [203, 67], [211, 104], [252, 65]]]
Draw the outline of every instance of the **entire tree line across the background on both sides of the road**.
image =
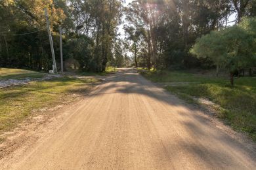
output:
[[[125, 66], [130, 63], [129, 55], [134, 66], [148, 69], [231, 68], [220, 64], [228, 63], [223, 58], [230, 58], [231, 54], [255, 54], [230, 46], [239, 42], [242, 47], [245, 41], [240, 39], [253, 35], [246, 27], [252, 25], [251, 29], [255, 29], [255, 25], [248, 24], [253, 20], [246, 17], [256, 16], [256, 0], [136, 0], [127, 6], [122, 0], [3, 0], [0, 1], [0, 67], [51, 69], [45, 8], [49, 12], [56, 56], [60, 55], [61, 25], [64, 61], [75, 59], [83, 71], [102, 72], [106, 65]], [[123, 16], [127, 36], [121, 39], [118, 25], [122, 24]], [[230, 24], [240, 26], [230, 28]], [[203, 38], [204, 35], [211, 40]], [[228, 50], [210, 49], [219, 46], [214, 37], [226, 37], [221, 47]], [[232, 41], [233, 37], [237, 43]], [[253, 42], [254, 39], [246, 41], [247, 49], [255, 48]], [[234, 53], [234, 49], [238, 52]], [[231, 60], [236, 63], [233, 66], [253, 63], [244, 59], [247, 58], [241, 57], [239, 62]], [[60, 58], [56, 60], [60, 63]]]

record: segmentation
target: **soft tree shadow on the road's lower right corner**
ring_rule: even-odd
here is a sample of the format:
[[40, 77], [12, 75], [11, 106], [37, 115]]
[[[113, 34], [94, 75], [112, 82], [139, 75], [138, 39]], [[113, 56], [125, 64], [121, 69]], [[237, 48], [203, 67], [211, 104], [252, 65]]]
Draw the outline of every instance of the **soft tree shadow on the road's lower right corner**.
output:
[[[193, 117], [204, 119], [198, 115], [193, 115]], [[209, 120], [203, 123], [203, 126], [192, 122], [181, 122], [181, 125], [188, 132], [188, 136], [163, 141], [163, 144], [160, 144], [156, 150], [157, 153], [175, 152], [175, 157], [169, 158], [169, 162], [182, 160], [193, 163], [194, 161], [200, 168], [207, 167], [207, 169], [253, 169], [251, 165], [246, 164], [246, 161], [256, 162], [255, 149], [245, 147], [244, 144], [215, 127], [213, 127], [215, 131], [205, 131], [207, 126], [213, 126]], [[175, 150], [173, 150], [174, 146]], [[164, 155], [157, 156], [163, 157]], [[246, 161], [243, 160], [244, 158]], [[181, 164], [181, 166], [184, 166], [184, 169], [188, 168], [186, 165]]]

